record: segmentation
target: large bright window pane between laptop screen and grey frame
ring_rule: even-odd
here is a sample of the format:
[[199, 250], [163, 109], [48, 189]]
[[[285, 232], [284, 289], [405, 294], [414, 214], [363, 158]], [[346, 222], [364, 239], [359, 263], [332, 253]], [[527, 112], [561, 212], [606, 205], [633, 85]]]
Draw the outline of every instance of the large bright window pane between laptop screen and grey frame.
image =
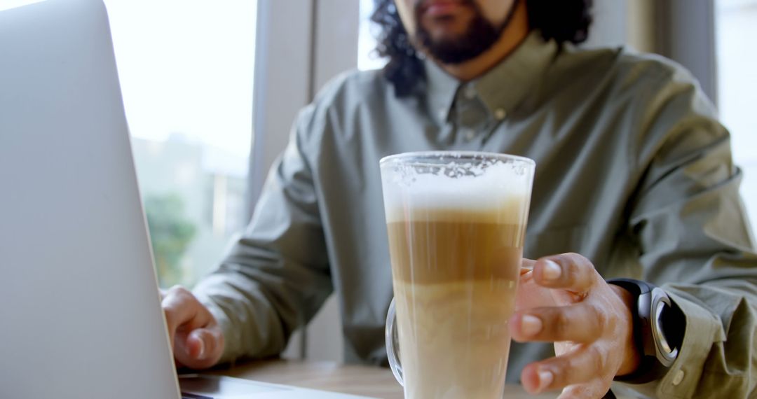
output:
[[161, 286], [192, 286], [245, 221], [257, 2], [105, 0]]

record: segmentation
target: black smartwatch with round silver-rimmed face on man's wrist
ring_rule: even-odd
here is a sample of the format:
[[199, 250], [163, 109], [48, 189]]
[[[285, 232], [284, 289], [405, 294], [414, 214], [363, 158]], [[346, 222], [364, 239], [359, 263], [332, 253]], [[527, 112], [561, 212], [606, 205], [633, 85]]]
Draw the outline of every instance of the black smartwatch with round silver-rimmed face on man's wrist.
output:
[[684, 312], [661, 288], [631, 279], [610, 279], [607, 283], [631, 292], [636, 306], [634, 340], [640, 350], [640, 363], [634, 373], [616, 376], [615, 381], [643, 384], [665, 376], [681, 351], [686, 331]]

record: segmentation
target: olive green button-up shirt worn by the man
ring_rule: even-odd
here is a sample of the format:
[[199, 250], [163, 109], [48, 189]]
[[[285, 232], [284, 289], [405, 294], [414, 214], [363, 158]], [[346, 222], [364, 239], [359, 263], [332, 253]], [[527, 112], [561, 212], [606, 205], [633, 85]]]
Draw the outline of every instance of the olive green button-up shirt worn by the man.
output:
[[[581, 50], [537, 32], [472, 82], [425, 61], [416, 94], [380, 71], [334, 79], [299, 114], [254, 216], [195, 292], [223, 360], [285, 348], [335, 292], [345, 360], [385, 364], [391, 268], [378, 160], [420, 150], [528, 156], [537, 172], [525, 256], [578, 252], [605, 278], [662, 286], [686, 314], [653, 397], [754, 396], [757, 256], [715, 109], [680, 66]], [[513, 344], [507, 379], [553, 356]]]

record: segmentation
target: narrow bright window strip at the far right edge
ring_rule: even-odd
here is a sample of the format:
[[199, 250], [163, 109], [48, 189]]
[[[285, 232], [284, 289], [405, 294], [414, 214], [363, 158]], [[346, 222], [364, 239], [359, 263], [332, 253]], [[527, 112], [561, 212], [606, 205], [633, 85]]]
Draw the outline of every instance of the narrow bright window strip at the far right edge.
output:
[[734, 162], [744, 171], [741, 193], [757, 229], [757, 0], [717, 0], [715, 18], [721, 120], [731, 131]]

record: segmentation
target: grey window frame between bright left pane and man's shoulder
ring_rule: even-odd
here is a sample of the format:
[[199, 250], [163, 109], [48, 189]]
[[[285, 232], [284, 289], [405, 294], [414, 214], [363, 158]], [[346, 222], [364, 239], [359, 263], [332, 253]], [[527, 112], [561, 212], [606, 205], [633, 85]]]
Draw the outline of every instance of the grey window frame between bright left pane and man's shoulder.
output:
[[[298, 112], [329, 79], [357, 68], [359, 16], [355, 0], [258, 0], [246, 220]], [[282, 356], [341, 361], [340, 326], [332, 295]]]

